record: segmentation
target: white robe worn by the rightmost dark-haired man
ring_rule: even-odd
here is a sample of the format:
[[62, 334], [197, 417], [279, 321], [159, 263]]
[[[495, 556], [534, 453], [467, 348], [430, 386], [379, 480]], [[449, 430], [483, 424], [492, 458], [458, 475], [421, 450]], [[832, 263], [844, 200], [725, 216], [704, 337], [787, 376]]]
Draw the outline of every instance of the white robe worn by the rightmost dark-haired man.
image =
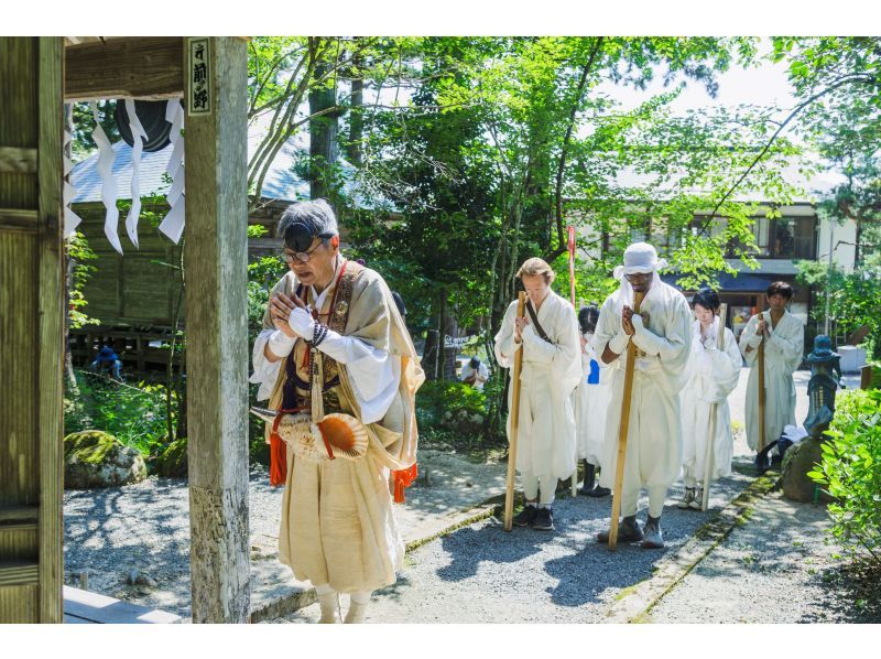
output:
[[[764, 441], [770, 444], [783, 432], [784, 426], [795, 425], [795, 382], [792, 374], [804, 357], [805, 326], [788, 311], [771, 328], [771, 312], [762, 312], [771, 333], [764, 348]], [[759, 316], [747, 323], [740, 335], [740, 352], [750, 366], [747, 382], [747, 443], [753, 451], [759, 446], [759, 336], [755, 327]], [[752, 350], [747, 352], [747, 347]]]

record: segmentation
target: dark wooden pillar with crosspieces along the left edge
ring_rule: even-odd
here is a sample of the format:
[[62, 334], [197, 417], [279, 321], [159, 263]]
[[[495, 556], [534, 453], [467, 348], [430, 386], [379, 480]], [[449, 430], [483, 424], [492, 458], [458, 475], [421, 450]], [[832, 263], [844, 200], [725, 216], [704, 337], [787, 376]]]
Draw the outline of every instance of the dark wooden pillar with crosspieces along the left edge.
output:
[[0, 623], [61, 623], [61, 37], [0, 37]]

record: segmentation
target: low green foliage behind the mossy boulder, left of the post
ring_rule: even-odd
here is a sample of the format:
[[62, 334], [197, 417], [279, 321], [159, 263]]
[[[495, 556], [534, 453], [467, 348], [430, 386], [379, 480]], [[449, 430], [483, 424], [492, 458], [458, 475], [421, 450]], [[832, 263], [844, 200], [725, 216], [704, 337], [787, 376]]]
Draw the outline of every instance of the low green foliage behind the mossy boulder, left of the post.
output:
[[[87, 371], [75, 371], [76, 393], [65, 398], [65, 433], [100, 430], [148, 456], [166, 441], [165, 388], [139, 382], [115, 382]], [[173, 392], [176, 413], [178, 400]]]

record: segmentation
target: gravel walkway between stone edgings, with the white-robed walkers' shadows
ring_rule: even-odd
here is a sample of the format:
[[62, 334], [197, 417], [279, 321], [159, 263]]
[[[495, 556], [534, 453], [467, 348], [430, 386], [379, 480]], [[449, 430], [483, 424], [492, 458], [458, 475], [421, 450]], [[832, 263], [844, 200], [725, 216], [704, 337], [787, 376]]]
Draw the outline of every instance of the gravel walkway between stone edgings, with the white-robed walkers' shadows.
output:
[[[717, 508], [751, 480], [736, 473], [713, 491], [707, 512], [672, 506], [662, 521], [662, 551], [619, 544], [609, 552], [596, 534], [609, 519], [609, 499], [557, 499], [552, 533], [515, 528], [505, 533], [489, 519], [431, 542], [407, 555], [395, 585], [379, 591], [368, 613], [372, 623], [591, 623], [603, 618], [614, 597], [648, 579], [664, 555], [676, 551]], [[648, 499], [641, 501], [648, 507]], [[644, 511], [641, 512], [644, 517]], [[347, 603], [344, 598], [344, 607]], [[275, 622], [311, 623], [318, 605]]]

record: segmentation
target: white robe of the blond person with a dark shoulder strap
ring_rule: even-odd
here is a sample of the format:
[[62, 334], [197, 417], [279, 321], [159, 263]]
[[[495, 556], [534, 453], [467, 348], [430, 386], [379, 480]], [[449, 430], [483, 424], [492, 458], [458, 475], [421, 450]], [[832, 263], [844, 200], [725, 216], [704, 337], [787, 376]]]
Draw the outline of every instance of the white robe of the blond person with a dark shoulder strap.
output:
[[[524, 350], [515, 466], [521, 474], [568, 478], [576, 464], [572, 392], [581, 377], [578, 321], [572, 304], [553, 291], [536, 315], [553, 343], [541, 338], [532, 323], [523, 331], [523, 341], [514, 343], [516, 302], [508, 307], [496, 335], [496, 358], [502, 368], [512, 368], [516, 350]], [[512, 395], [513, 386], [508, 391], [509, 410]], [[510, 414], [507, 428], [510, 441]]]

